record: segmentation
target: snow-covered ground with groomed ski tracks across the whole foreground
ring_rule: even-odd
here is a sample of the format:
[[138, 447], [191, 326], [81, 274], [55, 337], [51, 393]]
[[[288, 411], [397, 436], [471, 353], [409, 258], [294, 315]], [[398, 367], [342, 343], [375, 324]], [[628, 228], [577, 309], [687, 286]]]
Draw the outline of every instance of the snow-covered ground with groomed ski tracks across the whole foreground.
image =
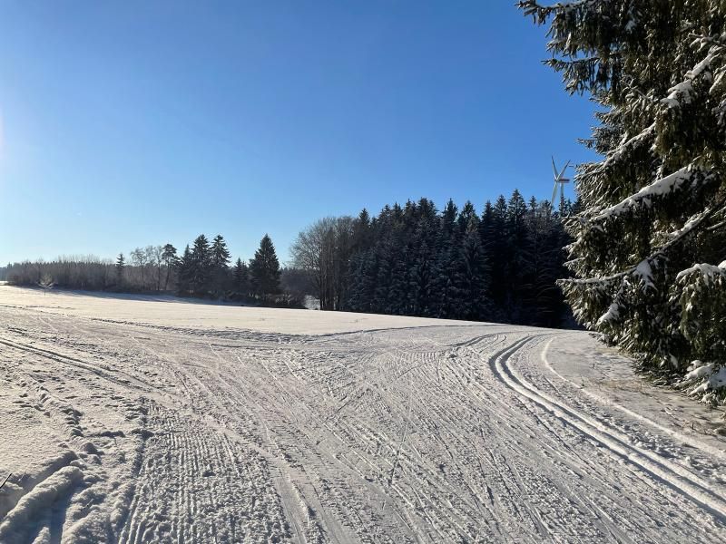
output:
[[724, 542], [721, 412], [584, 332], [0, 286], [0, 542]]

